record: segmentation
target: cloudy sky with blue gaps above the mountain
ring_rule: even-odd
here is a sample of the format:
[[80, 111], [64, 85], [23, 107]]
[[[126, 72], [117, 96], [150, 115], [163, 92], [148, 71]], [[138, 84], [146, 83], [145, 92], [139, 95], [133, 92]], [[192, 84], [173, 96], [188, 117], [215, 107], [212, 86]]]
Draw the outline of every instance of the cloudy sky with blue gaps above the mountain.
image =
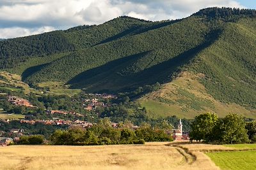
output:
[[175, 20], [207, 7], [256, 8], [256, 0], [0, 0], [0, 38], [102, 24], [122, 15]]

